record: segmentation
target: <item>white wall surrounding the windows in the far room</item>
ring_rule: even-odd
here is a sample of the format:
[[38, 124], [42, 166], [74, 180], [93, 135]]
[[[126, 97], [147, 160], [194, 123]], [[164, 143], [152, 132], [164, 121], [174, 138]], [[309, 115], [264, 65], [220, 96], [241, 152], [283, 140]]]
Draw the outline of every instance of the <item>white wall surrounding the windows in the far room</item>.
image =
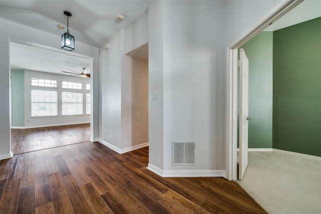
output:
[[[57, 80], [58, 88], [58, 116], [55, 117], [32, 117], [31, 116], [31, 89], [39, 88], [31, 86], [31, 78], [43, 78], [49, 80]], [[76, 116], [62, 116], [61, 115], [61, 92], [71, 91], [70, 89], [62, 89], [62, 81], [82, 83], [82, 90], [72, 90], [72, 92], [82, 92], [83, 93], [83, 115]], [[90, 115], [86, 115], [86, 93], [90, 91], [86, 90], [86, 84], [90, 84], [89, 78], [80, 77], [69, 77], [66, 75], [57, 75], [37, 71], [25, 70], [25, 127], [45, 127], [45, 126], [55, 126], [55, 125], [69, 125], [69, 124], [79, 124], [79, 123], [90, 123]], [[40, 88], [41, 90], [41, 88]], [[60, 99], [59, 99], [60, 98]]]

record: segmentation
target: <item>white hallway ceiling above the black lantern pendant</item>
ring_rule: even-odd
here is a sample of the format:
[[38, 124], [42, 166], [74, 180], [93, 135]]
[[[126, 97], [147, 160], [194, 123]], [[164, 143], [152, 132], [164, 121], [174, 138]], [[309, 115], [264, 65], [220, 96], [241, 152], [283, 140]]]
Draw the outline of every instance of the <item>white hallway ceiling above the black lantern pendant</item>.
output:
[[[126, 29], [148, 8], [149, 1], [44, 1], [44, 0], [1, 0], [0, 17], [22, 25], [36, 28], [55, 35], [67, 32], [75, 40], [95, 47], [101, 46], [120, 28]], [[116, 20], [121, 14], [123, 21]], [[59, 29], [57, 25], [65, 26]]]

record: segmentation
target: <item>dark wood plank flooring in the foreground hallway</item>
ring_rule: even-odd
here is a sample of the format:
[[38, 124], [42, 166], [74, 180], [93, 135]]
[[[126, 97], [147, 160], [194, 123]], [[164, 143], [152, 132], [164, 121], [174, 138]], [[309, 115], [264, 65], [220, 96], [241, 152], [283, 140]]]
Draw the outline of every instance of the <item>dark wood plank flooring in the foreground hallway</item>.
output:
[[222, 177], [163, 178], [148, 147], [82, 142], [0, 161], [0, 213], [266, 213]]

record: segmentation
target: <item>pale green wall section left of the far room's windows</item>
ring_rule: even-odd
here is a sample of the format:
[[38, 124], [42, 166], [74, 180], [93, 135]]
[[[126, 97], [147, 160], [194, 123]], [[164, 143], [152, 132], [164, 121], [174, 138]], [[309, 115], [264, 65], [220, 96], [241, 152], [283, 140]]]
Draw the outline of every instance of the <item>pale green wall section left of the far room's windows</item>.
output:
[[12, 126], [25, 127], [25, 71], [11, 70]]

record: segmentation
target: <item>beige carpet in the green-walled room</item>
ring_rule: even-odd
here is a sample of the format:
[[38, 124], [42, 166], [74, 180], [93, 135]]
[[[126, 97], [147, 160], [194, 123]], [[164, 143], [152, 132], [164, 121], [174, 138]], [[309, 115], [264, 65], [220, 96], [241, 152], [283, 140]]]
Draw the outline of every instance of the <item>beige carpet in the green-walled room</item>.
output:
[[250, 151], [237, 182], [268, 213], [321, 213], [321, 160]]

